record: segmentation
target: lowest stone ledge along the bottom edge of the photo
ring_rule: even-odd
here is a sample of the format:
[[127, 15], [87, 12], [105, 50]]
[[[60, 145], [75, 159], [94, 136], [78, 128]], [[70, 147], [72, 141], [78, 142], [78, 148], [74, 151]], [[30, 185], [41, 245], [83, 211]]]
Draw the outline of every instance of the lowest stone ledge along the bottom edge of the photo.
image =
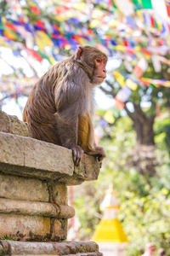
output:
[[102, 256], [94, 241], [25, 242], [0, 240], [0, 255]]

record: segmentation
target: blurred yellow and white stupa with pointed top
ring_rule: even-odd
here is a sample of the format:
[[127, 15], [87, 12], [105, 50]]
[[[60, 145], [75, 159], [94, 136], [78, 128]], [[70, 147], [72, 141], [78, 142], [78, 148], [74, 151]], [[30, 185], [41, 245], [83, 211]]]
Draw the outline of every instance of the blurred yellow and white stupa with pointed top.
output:
[[122, 224], [117, 219], [119, 204], [112, 185], [106, 191], [105, 199], [100, 208], [104, 211], [104, 217], [99, 222], [92, 241], [99, 244], [99, 250], [105, 256], [122, 256], [128, 240], [122, 230]]

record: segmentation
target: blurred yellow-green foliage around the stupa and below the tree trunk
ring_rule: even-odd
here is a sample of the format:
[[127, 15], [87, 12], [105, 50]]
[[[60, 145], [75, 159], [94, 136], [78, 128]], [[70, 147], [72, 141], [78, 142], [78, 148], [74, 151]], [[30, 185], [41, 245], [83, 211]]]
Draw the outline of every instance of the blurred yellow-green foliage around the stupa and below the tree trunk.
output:
[[170, 255], [170, 160], [165, 143], [165, 130], [169, 119], [166, 115], [167, 113], [164, 113], [157, 117], [154, 126], [156, 159], [160, 163], [156, 166], [154, 177], [144, 176], [135, 166], [129, 165], [130, 158], [135, 154], [132, 120], [122, 117], [116, 120], [116, 125], [107, 127], [111, 136], [100, 142], [105, 148], [107, 158], [104, 160], [99, 179], [75, 188], [75, 207], [83, 233], [80, 234], [80, 239], [86, 240], [93, 235], [100, 220], [96, 212], [99, 212], [99, 204], [104, 199], [105, 190], [112, 183], [121, 206], [118, 218], [129, 239], [126, 255], [141, 255], [145, 243], [149, 241], [154, 241], [157, 249], [165, 247], [167, 255]]

